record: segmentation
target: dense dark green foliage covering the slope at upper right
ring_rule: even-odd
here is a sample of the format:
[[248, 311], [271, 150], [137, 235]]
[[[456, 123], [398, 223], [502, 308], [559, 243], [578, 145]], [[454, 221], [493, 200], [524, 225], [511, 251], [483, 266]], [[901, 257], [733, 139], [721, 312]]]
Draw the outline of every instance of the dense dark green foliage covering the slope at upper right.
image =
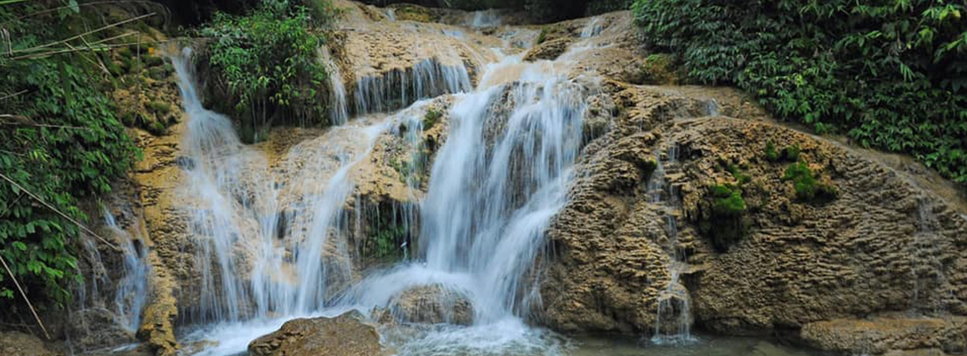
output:
[[636, 0], [633, 11], [690, 80], [736, 84], [780, 118], [967, 183], [963, 2]]

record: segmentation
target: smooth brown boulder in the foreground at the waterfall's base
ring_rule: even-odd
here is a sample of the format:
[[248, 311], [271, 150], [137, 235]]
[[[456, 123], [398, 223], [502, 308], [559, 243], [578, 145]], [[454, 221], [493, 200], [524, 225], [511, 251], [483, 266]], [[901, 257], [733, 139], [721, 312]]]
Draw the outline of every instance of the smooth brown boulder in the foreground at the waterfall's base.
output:
[[359, 312], [337, 317], [287, 321], [277, 332], [249, 343], [253, 356], [380, 356], [388, 355], [379, 334]]

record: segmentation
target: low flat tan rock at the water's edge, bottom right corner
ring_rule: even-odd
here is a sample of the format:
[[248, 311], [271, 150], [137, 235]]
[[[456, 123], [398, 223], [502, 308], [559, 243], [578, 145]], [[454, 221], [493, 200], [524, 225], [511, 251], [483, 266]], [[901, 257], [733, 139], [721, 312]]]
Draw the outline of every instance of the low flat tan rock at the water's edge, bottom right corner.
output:
[[851, 354], [960, 354], [967, 350], [967, 318], [835, 319], [806, 324], [800, 337], [815, 347]]

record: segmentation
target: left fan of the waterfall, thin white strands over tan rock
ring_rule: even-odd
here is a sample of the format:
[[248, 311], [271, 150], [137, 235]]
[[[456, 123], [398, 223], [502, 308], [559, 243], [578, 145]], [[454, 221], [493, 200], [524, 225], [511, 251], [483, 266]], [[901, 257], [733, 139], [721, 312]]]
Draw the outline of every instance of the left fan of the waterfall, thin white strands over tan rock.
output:
[[273, 174], [263, 153], [241, 144], [227, 117], [201, 106], [188, 55], [173, 62], [189, 115], [186, 152], [195, 162], [184, 188], [195, 197], [190, 228], [202, 284], [190, 321], [320, 310], [328, 282], [348, 273], [338, 263], [344, 254], [338, 239], [330, 239], [354, 187], [348, 172], [386, 125], [337, 127], [293, 147], [282, 165], [288, 175]]

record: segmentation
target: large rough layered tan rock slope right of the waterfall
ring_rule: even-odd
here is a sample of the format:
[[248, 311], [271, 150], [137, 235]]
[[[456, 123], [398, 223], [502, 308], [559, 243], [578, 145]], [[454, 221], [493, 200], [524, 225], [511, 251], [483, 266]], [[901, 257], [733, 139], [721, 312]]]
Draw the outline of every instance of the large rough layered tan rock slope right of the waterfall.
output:
[[[668, 323], [656, 320], [665, 290], [684, 287], [694, 324], [704, 330], [802, 330], [811, 344], [841, 351], [859, 352], [860, 340], [872, 338], [878, 346], [861, 351], [959, 352], [956, 322], [888, 312], [967, 313], [962, 200], [922, 188], [922, 179], [877, 156], [771, 122], [727, 90], [630, 84], [637, 80], [612, 63], [633, 62], [633, 47], [616, 41], [604, 53], [572, 55], [578, 68], [616, 81], [605, 82], [607, 98], [589, 109], [589, 122], [605, 134], [585, 148], [571, 201], [548, 232], [542, 296], [549, 325], [653, 333]], [[617, 115], [603, 124], [596, 112], [607, 110]], [[796, 147], [798, 155], [775, 162], [770, 145]], [[787, 176], [797, 161], [837, 197], [798, 196]], [[665, 167], [656, 176], [659, 163]], [[657, 180], [666, 186], [659, 198]], [[745, 200], [742, 237], [725, 251], [716, 239], [728, 222], [709, 219], [714, 186], [739, 187]], [[875, 328], [817, 324], [870, 315], [900, 331], [877, 337]], [[912, 346], [882, 341], [921, 335], [922, 323], [961, 333]], [[871, 336], [830, 341], [840, 332]]]

